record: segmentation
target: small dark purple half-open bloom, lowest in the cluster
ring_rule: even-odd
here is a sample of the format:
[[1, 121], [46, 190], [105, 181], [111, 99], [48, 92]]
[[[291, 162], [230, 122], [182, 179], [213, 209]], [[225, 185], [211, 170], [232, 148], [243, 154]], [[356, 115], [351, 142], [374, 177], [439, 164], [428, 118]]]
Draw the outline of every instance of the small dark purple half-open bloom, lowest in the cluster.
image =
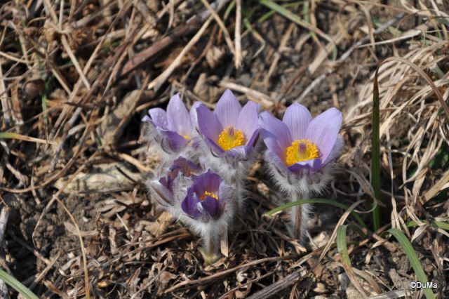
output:
[[182, 201], [181, 208], [190, 218], [208, 222], [220, 218], [229, 194], [220, 175], [210, 169], [194, 180], [187, 189], [187, 196]]

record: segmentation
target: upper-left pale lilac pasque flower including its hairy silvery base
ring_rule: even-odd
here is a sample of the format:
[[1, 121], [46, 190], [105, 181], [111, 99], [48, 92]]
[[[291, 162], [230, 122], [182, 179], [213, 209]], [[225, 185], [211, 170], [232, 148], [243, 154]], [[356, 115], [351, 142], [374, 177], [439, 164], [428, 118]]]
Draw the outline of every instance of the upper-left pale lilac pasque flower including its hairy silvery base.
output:
[[198, 146], [196, 142], [196, 130], [192, 125], [192, 117], [196, 112], [196, 107], [192, 106], [189, 112], [177, 93], [170, 98], [167, 111], [161, 108], [149, 109], [148, 114], [142, 121], [149, 124], [148, 138], [156, 141], [161, 152], [166, 154], [166, 159], [170, 160], [179, 154], [191, 157], [196, 152]]

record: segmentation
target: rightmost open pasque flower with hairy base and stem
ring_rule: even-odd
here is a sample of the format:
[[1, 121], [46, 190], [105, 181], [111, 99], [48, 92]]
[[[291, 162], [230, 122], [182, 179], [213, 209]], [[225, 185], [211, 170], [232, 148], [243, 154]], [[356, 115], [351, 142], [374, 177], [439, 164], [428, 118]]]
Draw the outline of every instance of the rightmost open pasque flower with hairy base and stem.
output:
[[[267, 145], [265, 161], [279, 187], [290, 194], [290, 201], [321, 192], [331, 180], [333, 161], [342, 150], [338, 135], [342, 113], [330, 108], [312, 119], [306, 107], [294, 103], [282, 121], [263, 112], [260, 124]], [[308, 212], [309, 206], [302, 205], [291, 213], [293, 237], [302, 239]]]

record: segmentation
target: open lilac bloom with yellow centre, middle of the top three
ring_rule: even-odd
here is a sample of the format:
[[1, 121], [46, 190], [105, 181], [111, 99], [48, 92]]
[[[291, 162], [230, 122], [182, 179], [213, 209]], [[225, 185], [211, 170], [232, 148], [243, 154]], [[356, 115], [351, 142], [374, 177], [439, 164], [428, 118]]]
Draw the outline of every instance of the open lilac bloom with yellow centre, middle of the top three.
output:
[[243, 158], [253, 150], [259, 133], [255, 102], [247, 102], [242, 108], [228, 89], [214, 112], [200, 105], [196, 114], [199, 133], [216, 154]]

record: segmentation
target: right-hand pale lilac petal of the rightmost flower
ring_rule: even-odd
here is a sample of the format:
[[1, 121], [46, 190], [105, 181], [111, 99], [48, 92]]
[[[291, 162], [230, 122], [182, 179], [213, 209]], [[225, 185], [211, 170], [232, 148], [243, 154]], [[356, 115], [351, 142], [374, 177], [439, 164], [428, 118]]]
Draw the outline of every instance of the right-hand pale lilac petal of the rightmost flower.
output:
[[307, 128], [306, 138], [316, 144], [322, 161], [326, 161], [335, 146], [342, 119], [340, 110], [330, 108], [319, 114], [318, 117], [315, 117], [310, 122], [309, 128]]

